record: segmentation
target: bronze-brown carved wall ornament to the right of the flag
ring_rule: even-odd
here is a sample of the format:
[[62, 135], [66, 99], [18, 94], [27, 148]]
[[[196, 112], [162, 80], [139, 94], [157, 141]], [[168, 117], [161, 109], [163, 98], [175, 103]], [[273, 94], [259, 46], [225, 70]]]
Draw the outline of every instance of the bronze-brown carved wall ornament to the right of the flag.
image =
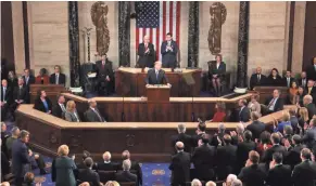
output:
[[220, 2], [215, 2], [210, 8], [211, 27], [208, 30], [208, 49], [213, 55], [219, 54], [222, 50], [222, 25], [226, 21], [227, 10]]

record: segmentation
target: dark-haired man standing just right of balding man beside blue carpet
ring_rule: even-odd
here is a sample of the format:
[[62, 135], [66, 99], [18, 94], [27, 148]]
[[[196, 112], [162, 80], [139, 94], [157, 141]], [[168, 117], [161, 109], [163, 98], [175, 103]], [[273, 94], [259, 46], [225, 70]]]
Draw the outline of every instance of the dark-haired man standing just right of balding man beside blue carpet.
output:
[[208, 145], [208, 137], [206, 134], [202, 135], [199, 147], [194, 149], [192, 155], [192, 162], [195, 168], [197, 178], [201, 181], [214, 180], [214, 167], [216, 158], [216, 148]]

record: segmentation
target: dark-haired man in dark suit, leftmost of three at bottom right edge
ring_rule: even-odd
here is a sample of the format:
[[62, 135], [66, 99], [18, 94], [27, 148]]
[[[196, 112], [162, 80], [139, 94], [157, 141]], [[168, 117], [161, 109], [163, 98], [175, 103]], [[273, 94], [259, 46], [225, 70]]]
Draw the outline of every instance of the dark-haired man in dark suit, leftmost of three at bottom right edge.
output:
[[258, 167], [260, 155], [252, 150], [244, 168], [238, 175], [243, 186], [264, 186], [266, 174]]

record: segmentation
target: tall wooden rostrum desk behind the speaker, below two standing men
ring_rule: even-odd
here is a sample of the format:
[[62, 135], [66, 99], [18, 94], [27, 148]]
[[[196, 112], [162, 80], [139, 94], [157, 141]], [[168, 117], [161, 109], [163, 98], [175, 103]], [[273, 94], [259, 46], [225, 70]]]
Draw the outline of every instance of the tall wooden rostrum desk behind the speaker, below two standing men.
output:
[[[172, 72], [166, 68], [166, 76], [173, 85], [170, 96], [173, 97], [190, 97], [200, 96], [201, 91], [201, 74], [199, 69], [182, 69], [182, 72]], [[186, 83], [182, 75], [191, 74], [195, 84], [190, 87]], [[115, 71], [115, 91], [121, 96], [146, 96], [146, 77], [147, 70], [141, 71], [140, 68], [121, 67]]]

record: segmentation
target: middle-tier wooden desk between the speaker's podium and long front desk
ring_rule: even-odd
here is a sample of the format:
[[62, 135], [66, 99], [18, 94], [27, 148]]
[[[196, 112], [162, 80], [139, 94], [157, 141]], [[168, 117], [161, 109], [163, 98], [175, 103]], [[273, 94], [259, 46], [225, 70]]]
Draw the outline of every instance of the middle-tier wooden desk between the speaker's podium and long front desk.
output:
[[[76, 102], [77, 110], [88, 109], [88, 99], [64, 93], [67, 99]], [[241, 98], [250, 99], [252, 93], [233, 98], [223, 97], [170, 97], [169, 102], [148, 102], [147, 97], [96, 97], [102, 116], [111, 122], [190, 122], [210, 120], [215, 112], [216, 102], [224, 102], [227, 109], [236, 108]]]

